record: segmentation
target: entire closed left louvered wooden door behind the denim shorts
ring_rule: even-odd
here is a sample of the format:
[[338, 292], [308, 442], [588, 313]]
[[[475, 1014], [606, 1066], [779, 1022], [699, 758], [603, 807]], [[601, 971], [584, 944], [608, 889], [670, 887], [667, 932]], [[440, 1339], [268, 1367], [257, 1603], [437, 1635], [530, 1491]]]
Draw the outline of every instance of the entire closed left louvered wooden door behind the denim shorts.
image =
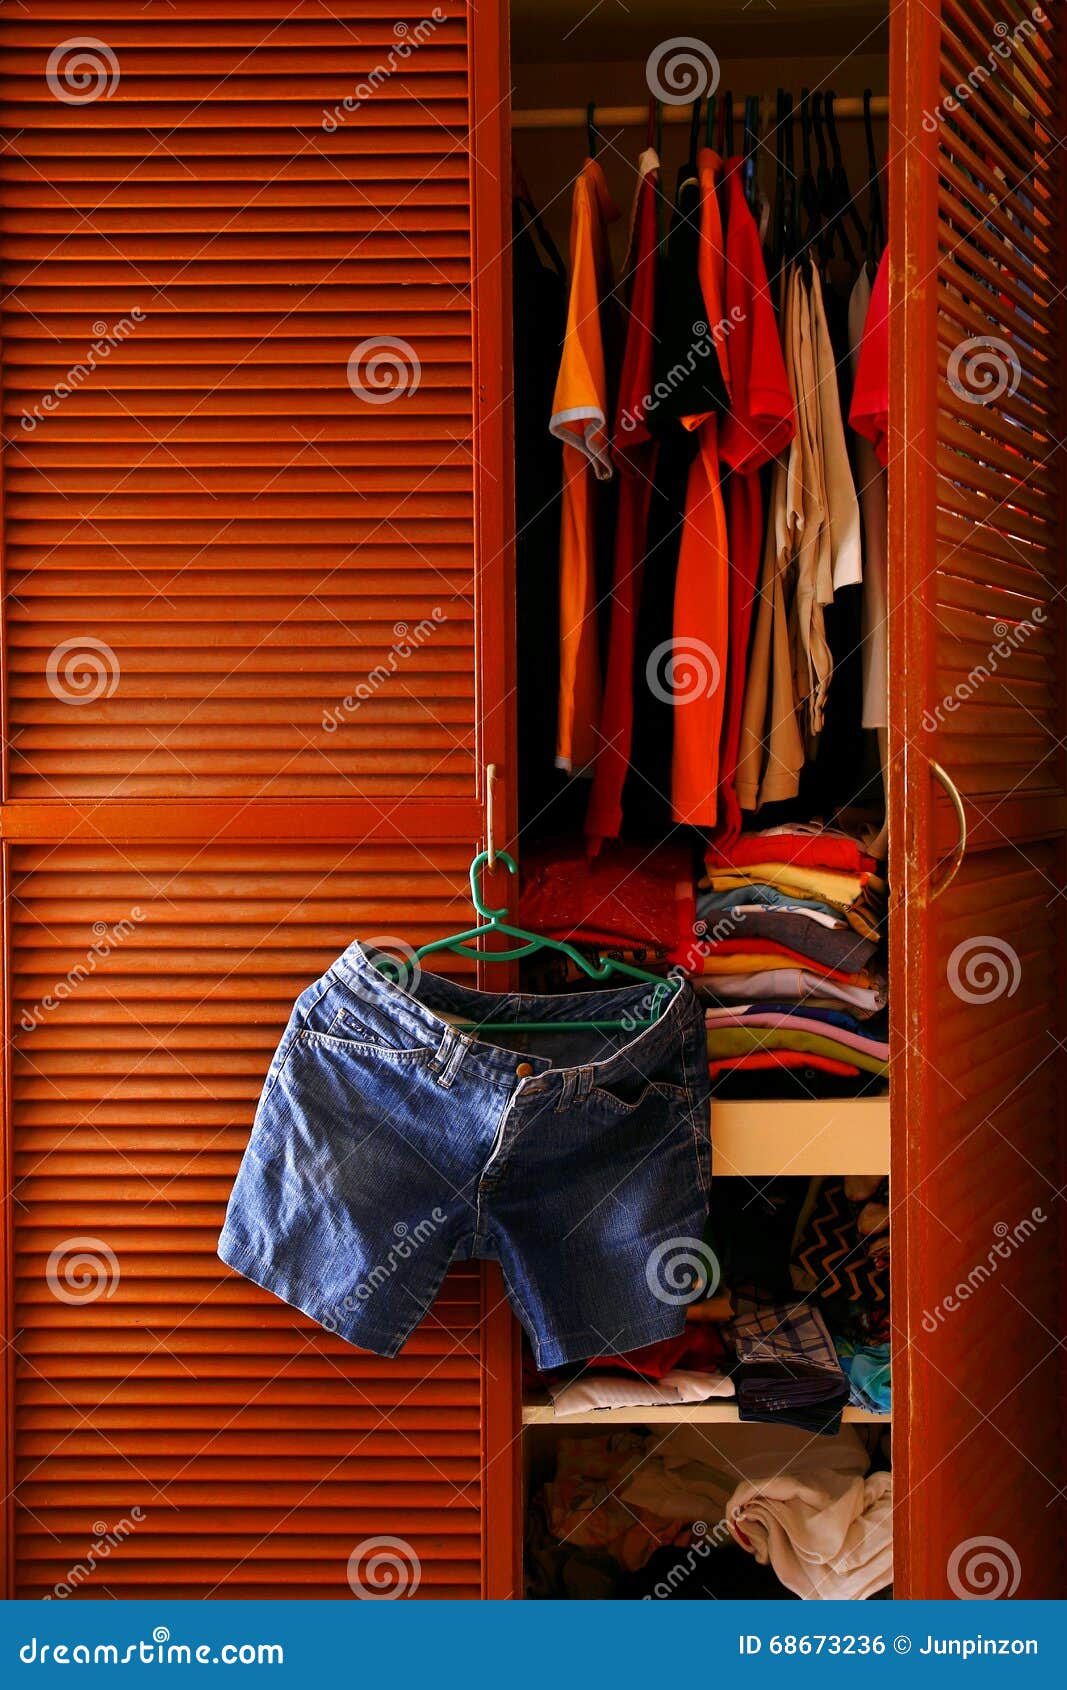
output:
[[379, 1360], [215, 1256], [294, 995], [511, 815], [495, 12], [0, 10], [19, 1595], [511, 1592], [499, 1281]]

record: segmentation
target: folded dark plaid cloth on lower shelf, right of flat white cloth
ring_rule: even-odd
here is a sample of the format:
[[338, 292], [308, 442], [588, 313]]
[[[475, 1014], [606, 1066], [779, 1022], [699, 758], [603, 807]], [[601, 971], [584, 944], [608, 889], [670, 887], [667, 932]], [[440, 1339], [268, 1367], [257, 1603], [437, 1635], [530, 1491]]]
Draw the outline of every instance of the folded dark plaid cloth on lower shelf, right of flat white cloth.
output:
[[822, 1315], [808, 1303], [739, 1300], [732, 1327], [741, 1420], [835, 1433], [849, 1381]]

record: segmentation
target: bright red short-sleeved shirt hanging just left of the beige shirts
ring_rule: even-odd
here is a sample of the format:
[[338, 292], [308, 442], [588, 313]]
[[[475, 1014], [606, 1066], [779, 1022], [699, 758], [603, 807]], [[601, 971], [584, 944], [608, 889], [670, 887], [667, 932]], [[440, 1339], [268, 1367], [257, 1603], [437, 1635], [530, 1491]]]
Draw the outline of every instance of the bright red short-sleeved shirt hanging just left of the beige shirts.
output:
[[741, 831], [736, 772], [741, 747], [741, 711], [747, 674], [747, 647], [756, 603], [763, 537], [759, 472], [793, 439], [793, 394], [781, 352], [763, 243], [742, 181], [744, 159], [734, 157], [724, 174], [725, 211], [725, 316], [730, 323], [730, 409], [719, 426], [719, 455], [730, 470], [727, 480], [729, 532], [729, 656], [722, 744], [719, 755], [719, 831], [732, 840]]

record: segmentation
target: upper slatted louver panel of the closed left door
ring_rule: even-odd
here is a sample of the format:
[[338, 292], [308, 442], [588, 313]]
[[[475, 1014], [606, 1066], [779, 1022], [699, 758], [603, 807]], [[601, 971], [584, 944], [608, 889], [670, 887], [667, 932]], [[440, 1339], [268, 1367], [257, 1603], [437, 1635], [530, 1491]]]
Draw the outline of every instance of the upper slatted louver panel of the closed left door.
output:
[[0, 17], [8, 796], [473, 798], [465, 7], [156, 10]]

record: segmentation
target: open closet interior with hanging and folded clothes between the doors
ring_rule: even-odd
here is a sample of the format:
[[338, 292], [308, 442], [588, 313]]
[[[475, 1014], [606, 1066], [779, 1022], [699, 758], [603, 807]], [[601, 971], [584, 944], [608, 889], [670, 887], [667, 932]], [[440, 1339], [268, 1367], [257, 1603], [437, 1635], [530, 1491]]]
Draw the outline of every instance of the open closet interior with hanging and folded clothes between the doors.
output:
[[512, 0], [519, 919], [687, 975], [714, 1154], [685, 1335], [524, 1357], [526, 1595], [883, 1595], [888, 8], [580, 14]]

